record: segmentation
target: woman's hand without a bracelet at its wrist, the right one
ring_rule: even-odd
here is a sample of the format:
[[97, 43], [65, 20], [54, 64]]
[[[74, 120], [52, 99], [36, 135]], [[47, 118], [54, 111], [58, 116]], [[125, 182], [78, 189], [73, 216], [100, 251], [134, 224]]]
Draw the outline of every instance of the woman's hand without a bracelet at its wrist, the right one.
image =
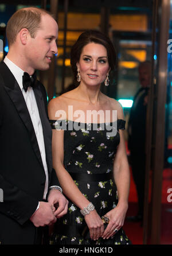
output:
[[127, 209], [128, 205], [117, 205], [114, 209], [105, 214], [105, 216], [110, 219], [110, 222], [102, 235], [103, 239], [108, 239], [111, 236], [114, 236], [115, 233], [118, 232], [117, 230], [123, 226]]

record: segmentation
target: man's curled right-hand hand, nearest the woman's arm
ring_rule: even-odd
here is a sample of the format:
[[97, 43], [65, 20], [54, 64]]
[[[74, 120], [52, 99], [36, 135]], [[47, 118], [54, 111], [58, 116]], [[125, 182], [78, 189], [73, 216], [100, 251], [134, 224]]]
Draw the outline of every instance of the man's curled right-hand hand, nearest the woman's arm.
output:
[[54, 212], [54, 215], [57, 218], [61, 218], [63, 215], [67, 214], [68, 211], [68, 200], [62, 195], [58, 189], [52, 189], [49, 192], [48, 202], [50, 205], [56, 207], [58, 204], [57, 210]]

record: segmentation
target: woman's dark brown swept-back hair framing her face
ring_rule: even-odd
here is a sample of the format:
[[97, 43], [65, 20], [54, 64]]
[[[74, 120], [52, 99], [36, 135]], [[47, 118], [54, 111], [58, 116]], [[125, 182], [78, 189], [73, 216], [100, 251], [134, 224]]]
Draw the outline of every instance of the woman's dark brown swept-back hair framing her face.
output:
[[71, 49], [71, 67], [74, 73], [75, 81], [77, 76], [76, 64], [80, 60], [80, 55], [83, 51], [84, 46], [89, 44], [90, 42], [95, 42], [95, 44], [101, 44], [105, 47], [105, 49], [107, 50], [108, 63], [110, 65], [110, 68], [111, 70], [115, 68], [116, 52], [110, 38], [97, 30], [87, 30], [80, 34], [79, 38], [77, 39], [77, 41]]

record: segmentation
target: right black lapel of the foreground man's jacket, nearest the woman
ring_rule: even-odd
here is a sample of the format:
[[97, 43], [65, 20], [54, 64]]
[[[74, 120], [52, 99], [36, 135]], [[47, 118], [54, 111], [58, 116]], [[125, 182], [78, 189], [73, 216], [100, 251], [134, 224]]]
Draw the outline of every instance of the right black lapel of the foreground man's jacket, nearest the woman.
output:
[[34, 95], [36, 97], [38, 111], [39, 111], [40, 119], [42, 123], [45, 153], [46, 153], [46, 164], [48, 165], [48, 170], [50, 172], [52, 169], [52, 129], [50, 127], [50, 123], [46, 115], [46, 111], [45, 111], [46, 106], [42, 96], [42, 92], [40, 91], [40, 85], [38, 81], [37, 81], [37, 86], [33, 90], [34, 90]]

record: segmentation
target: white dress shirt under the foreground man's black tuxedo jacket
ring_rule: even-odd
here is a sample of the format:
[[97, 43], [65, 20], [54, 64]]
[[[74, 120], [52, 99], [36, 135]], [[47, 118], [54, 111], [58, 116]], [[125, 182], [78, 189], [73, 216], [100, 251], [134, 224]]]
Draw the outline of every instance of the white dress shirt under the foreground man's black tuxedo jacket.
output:
[[42, 163], [44, 165], [46, 181], [45, 181], [45, 189], [43, 199], [46, 199], [46, 194], [48, 192], [48, 167], [46, 164], [46, 154], [45, 154], [45, 145], [44, 145], [44, 136], [42, 131], [42, 123], [40, 119], [40, 114], [37, 107], [36, 98], [34, 95], [33, 88], [29, 86], [28, 90], [25, 92], [23, 84], [22, 84], [22, 76], [24, 75], [24, 71], [15, 65], [11, 60], [7, 57], [4, 59], [5, 64], [10, 69], [11, 73], [13, 73], [15, 79], [19, 87], [21, 88], [22, 94], [24, 95], [24, 99], [26, 105], [28, 107], [28, 111], [30, 114], [30, 118], [32, 119], [34, 131], [37, 137], [38, 146], [40, 148]]

